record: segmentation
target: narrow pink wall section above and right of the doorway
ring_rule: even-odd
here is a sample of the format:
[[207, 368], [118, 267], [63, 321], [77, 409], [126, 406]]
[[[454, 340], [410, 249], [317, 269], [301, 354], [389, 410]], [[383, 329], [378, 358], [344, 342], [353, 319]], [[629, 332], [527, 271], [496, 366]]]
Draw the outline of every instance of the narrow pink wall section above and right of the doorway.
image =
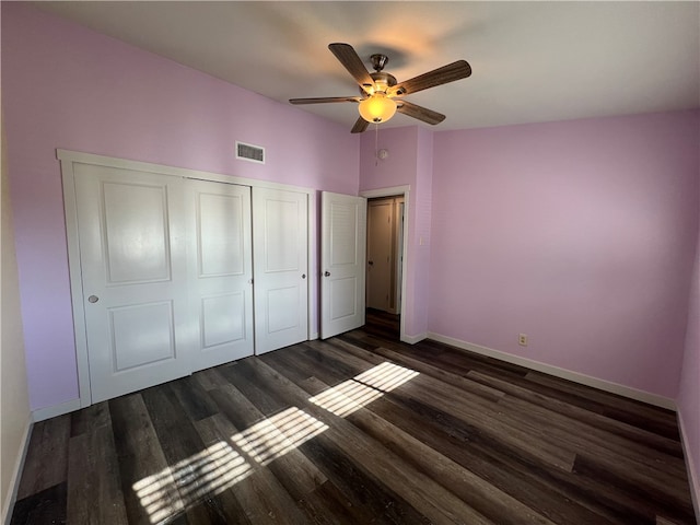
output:
[[[388, 156], [377, 160], [375, 151]], [[409, 128], [371, 128], [360, 143], [360, 190], [410, 186], [408, 218], [408, 272], [402, 302], [406, 334], [421, 336], [428, 328], [427, 304], [430, 271], [430, 210], [432, 177], [432, 132]], [[423, 244], [420, 244], [420, 238]]]

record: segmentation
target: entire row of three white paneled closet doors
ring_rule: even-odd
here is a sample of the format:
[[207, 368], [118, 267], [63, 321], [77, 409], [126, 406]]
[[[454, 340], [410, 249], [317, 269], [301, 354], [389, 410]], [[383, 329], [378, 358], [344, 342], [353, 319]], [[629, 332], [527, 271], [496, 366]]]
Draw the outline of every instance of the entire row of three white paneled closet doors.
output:
[[308, 339], [306, 194], [72, 166], [92, 402]]

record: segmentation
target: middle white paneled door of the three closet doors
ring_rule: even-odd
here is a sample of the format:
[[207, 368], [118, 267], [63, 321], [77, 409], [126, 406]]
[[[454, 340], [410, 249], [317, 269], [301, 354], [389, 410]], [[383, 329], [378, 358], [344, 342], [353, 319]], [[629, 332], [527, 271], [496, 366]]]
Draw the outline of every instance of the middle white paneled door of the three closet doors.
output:
[[192, 371], [253, 354], [250, 188], [187, 182]]

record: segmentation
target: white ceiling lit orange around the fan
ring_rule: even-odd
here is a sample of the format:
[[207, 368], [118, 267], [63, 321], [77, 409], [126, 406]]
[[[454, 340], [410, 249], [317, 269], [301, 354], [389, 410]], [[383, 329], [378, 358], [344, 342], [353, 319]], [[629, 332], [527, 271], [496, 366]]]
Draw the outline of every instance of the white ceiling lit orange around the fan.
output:
[[[407, 96], [447, 115], [441, 130], [700, 107], [697, 1], [36, 5], [283, 103], [358, 94], [334, 42], [370, 70], [370, 55], [386, 54], [399, 82], [466, 59], [470, 78]], [[296, 107], [348, 129], [358, 118], [352, 103]]]

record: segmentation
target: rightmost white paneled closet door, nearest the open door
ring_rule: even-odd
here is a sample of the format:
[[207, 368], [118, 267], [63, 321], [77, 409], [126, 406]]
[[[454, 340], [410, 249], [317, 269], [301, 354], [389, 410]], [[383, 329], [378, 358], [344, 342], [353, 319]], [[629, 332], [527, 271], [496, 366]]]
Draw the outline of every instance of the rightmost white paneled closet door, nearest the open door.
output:
[[255, 353], [308, 339], [306, 194], [253, 188]]

